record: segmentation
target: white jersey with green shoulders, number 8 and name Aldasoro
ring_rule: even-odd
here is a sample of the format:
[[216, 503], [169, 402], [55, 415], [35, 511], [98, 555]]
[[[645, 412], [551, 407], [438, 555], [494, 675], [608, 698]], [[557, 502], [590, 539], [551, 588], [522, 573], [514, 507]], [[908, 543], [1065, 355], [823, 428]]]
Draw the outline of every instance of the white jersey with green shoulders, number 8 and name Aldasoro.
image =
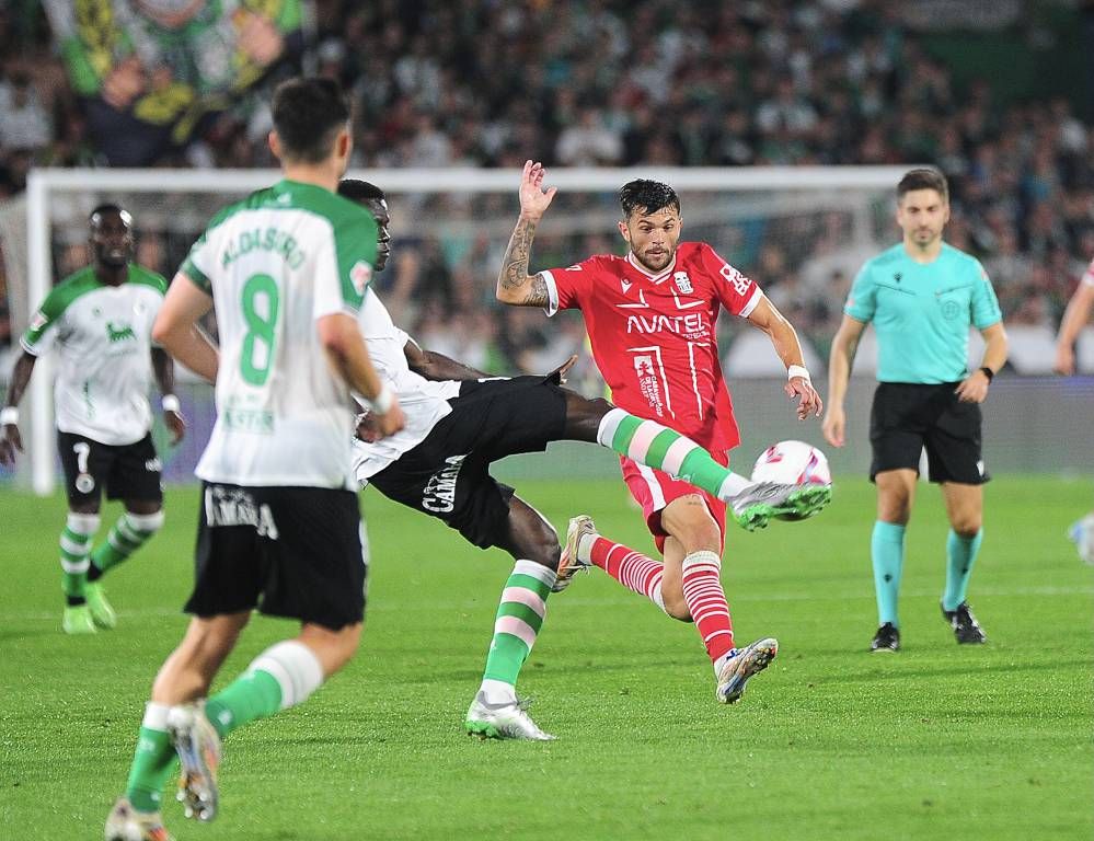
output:
[[220, 336], [207, 482], [353, 488], [349, 389], [316, 320], [357, 316], [372, 277], [371, 214], [281, 181], [221, 210], [180, 269], [212, 296]]

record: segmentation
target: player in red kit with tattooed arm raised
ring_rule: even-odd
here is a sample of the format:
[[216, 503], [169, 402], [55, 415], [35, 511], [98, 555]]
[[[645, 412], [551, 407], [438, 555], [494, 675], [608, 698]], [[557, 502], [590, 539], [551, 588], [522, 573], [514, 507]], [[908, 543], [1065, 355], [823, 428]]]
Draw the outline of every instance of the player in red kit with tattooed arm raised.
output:
[[[637, 180], [620, 189], [619, 231], [630, 246], [625, 257], [598, 255], [529, 275], [536, 227], [556, 192], [543, 189], [544, 174], [542, 164], [525, 164], [520, 218], [498, 276], [497, 298], [541, 307], [549, 315], [581, 310], [592, 356], [617, 406], [690, 436], [728, 464], [728, 451], [740, 435], [715, 333], [718, 312], [726, 309], [770, 336], [786, 366], [785, 392], [798, 400], [798, 418], [820, 414], [820, 395], [809, 380], [794, 327], [752, 280], [710, 245], [680, 242], [680, 200], [667, 184]], [[610, 413], [603, 423], [611, 423]], [[625, 456], [620, 461], [664, 562], [600, 537], [583, 515], [571, 520], [557, 588], [568, 584], [576, 569], [596, 565], [668, 615], [694, 622], [714, 665], [716, 696], [733, 703], [779, 646], [771, 637], [745, 648], [734, 645], [721, 583], [726, 504]], [[730, 499], [730, 510], [749, 529], [765, 525], [771, 516], [809, 516], [831, 498], [828, 486], [773, 489], [742, 476], [736, 480], [739, 493]]]

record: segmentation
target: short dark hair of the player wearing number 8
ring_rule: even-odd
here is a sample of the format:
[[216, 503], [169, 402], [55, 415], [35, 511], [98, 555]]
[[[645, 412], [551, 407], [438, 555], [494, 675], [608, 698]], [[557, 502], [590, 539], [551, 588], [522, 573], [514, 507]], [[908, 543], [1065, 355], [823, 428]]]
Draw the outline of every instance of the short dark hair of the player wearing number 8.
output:
[[270, 108], [285, 157], [302, 163], [330, 158], [335, 135], [349, 120], [349, 102], [342, 85], [320, 77], [281, 82]]

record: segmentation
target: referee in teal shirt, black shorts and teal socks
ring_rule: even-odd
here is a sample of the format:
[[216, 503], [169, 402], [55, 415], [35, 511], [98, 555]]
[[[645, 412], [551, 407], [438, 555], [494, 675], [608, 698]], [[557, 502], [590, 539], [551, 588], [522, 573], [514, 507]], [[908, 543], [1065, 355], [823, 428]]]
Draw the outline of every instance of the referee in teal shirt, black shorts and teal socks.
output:
[[[958, 643], [983, 643], [983, 629], [965, 594], [983, 540], [980, 404], [1006, 361], [999, 301], [976, 257], [947, 245], [949, 191], [936, 170], [907, 173], [897, 185], [897, 223], [903, 241], [867, 262], [855, 277], [828, 365], [825, 438], [842, 447], [851, 362], [870, 322], [877, 332], [877, 391], [870, 416], [877, 485], [877, 520], [870, 541], [877, 596], [874, 652], [900, 648], [897, 600], [905, 530], [915, 496], [920, 453], [930, 480], [942, 484], [949, 518], [942, 613]], [[983, 335], [980, 367], [967, 367], [969, 326]]]

